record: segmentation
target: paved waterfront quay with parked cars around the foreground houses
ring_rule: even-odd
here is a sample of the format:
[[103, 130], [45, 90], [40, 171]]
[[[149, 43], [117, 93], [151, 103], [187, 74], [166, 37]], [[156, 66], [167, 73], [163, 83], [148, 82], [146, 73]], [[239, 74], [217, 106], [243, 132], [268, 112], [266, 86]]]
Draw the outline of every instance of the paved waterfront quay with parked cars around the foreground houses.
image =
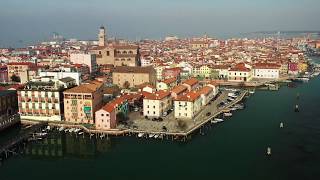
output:
[[[86, 127], [85, 125], [71, 124], [67, 122], [48, 122], [49, 126], [52, 127], [65, 127], [65, 128], [79, 128], [88, 134], [95, 134], [96, 136], [105, 134], [106, 136], [125, 136], [125, 135], [138, 135], [139, 133], [143, 134], [161, 134], [163, 136], [171, 136], [175, 138], [186, 138], [189, 135], [197, 132], [203, 126], [210, 123], [210, 120], [217, 117], [219, 114], [222, 114], [225, 111], [228, 111], [229, 108], [245, 98], [248, 94], [248, 91], [244, 90], [241, 94], [228, 105], [218, 108], [218, 104], [226, 101], [228, 98], [229, 91], [222, 92], [212, 103], [204, 106], [202, 110], [193, 118], [189, 120], [183, 120], [186, 123], [184, 129], [177, 127], [177, 120], [173, 118], [173, 112], [167, 117], [163, 122], [155, 122], [151, 120], [146, 120], [144, 117], [131, 119], [131, 126], [125, 128], [123, 125], [119, 125], [119, 129], [112, 130], [96, 130], [92, 127]], [[207, 114], [210, 113], [208, 116]], [[22, 120], [23, 124], [34, 124], [35, 121]], [[167, 127], [167, 130], [163, 130], [163, 126]], [[201, 131], [201, 130], [200, 130]]]

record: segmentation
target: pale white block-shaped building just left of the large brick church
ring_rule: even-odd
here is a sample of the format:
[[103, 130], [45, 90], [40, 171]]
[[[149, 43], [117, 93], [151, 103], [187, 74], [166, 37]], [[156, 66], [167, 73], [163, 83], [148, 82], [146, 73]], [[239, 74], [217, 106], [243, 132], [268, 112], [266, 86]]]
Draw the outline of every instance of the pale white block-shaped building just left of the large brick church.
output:
[[85, 64], [89, 66], [91, 73], [97, 71], [97, 59], [95, 54], [70, 54], [70, 62], [73, 64]]

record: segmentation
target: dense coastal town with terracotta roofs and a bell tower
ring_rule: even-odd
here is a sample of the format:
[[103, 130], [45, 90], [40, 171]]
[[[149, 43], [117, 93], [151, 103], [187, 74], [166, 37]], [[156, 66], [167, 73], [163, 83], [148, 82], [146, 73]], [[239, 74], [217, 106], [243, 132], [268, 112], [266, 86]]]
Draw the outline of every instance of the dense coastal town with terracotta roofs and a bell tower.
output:
[[243, 109], [257, 87], [319, 75], [306, 48], [320, 40], [306, 37], [131, 42], [103, 26], [97, 37], [0, 49], [0, 130], [21, 122], [100, 138], [186, 138]]

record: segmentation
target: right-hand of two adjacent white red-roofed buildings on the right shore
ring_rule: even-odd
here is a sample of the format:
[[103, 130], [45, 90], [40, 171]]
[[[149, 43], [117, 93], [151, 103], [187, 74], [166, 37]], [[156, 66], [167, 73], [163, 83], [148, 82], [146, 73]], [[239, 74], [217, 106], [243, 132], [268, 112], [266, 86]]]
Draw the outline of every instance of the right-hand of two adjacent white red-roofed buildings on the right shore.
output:
[[270, 63], [257, 63], [253, 67], [254, 78], [279, 79], [281, 66]]

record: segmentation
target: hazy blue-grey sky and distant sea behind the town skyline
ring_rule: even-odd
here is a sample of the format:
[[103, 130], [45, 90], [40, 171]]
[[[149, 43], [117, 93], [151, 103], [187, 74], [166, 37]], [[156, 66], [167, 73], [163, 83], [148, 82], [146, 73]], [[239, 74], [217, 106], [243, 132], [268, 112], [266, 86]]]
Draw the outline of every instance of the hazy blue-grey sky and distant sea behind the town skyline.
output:
[[226, 37], [261, 30], [320, 30], [320, 0], [0, 0], [0, 47], [67, 38], [109, 36]]

